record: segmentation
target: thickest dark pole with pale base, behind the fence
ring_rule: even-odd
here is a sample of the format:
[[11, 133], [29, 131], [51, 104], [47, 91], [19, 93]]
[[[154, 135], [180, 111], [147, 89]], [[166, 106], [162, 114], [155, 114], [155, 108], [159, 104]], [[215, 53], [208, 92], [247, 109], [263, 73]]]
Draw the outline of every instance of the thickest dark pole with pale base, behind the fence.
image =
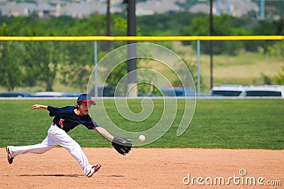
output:
[[[127, 36], [136, 36], [136, 0], [124, 0], [127, 9]], [[137, 97], [136, 41], [129, 41], [127, 48], [127, 92]], [[132, 45], [131, 45], [132, 44]]]

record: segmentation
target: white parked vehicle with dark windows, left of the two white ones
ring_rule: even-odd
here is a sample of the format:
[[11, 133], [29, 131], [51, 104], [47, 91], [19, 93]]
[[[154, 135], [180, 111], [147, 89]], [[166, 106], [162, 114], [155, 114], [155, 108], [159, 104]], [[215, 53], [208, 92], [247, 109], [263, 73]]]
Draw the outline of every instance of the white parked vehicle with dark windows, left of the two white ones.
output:
[[218, 85], [212, 87], [209, 92], [211, 96], [222, 96], [222, 97], [239, 97], [241, 92], [244, 92], [247, 86], [244, 85]]

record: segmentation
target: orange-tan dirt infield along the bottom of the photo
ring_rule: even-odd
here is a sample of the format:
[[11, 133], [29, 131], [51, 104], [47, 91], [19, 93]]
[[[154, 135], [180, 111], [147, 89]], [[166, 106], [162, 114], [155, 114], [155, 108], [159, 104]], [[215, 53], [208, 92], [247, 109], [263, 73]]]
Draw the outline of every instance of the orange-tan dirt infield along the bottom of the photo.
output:
[[244, 188], [251, 184], [252, 188], [268, 188], [268, 184], [274, 185], [269, 188], [282, 188], [284, 185], [283, 150], [133, 148], [127, 156], [121, 156], [113, 148], [83, 148], [90, 163], [102, 164], [92, 178], [84, 176], [77, 161], [64, 148], [41, 155], [21, 155], [12, 165], [6, 160], [5, 149], [0, 150], [0, 188], [197, 188], [202, 184], [215, 188]]

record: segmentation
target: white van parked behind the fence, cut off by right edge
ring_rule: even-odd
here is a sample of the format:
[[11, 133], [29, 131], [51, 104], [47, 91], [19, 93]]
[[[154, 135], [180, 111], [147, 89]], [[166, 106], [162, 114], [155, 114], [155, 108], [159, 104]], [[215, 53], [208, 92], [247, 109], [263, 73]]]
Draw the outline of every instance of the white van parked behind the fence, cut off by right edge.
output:
[[241, 97], [282, 97], [284, 85], [251, 85], [241, 93]]

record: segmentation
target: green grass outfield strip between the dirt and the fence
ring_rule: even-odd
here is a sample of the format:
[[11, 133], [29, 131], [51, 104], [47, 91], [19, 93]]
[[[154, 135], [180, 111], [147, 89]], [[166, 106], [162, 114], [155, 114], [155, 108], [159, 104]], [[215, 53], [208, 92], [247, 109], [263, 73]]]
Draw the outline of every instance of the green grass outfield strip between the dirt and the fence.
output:
[[[282, 99], [199, 99], [195, 115], [187, 131], [176, 136], [182, 117], [182, 99], [178, 100], [179, 109], [173, 126], [152, 144], [143, 147], [159, 148], [266, 148], [284, 149], [284, 100]], [[32, 110], [32, 105], [49, 104], [63, 107], [75, 104], [75, 100], [0, 100], [0, 146], [28, 145], [40, 143], [46, 136], [53, 120], [44, 109]], [[97, 101], [99, 117], [102, 109]], [[146, 121], [137, 123], [120, 117], [113, 100], [104, 100], [109, 117], [123, 129], [140, 131], [141, 126], [151, 128], [160, 119], [163, 101], [154, 100], [153, 114]], [[131, 101], [133, 111], [141, 110], [140, 100]], [[94, 117], [96, 121], [96, 118]], [[98, 122], [104, 126], [101, 122]], [[84, 147], [111, 147], [111, 143], [77, 126], [70, 136]]]

